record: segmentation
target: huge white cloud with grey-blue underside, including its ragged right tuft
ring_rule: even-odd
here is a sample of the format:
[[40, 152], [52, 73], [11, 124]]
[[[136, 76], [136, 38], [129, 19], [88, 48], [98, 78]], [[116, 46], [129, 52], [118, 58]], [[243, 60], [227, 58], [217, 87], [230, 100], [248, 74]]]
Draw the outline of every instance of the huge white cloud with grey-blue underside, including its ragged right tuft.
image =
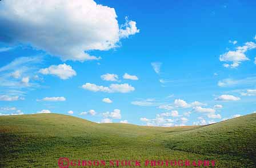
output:
[[6, 30], [0, 32], [3, 42], [30, 43], [64, 61], [100, 59], [85, 51], [109, 50], [139, 33], [127, 19], [119, 28], [115, 9], [93, 0], [3, 1], [0, 27]]

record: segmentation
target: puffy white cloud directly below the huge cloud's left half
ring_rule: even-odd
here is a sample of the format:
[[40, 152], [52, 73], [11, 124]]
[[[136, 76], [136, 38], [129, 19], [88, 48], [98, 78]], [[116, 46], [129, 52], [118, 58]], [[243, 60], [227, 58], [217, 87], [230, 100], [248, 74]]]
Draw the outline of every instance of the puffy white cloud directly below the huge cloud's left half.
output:
[[45, 69], [39, 70], [39, 73], [44, 75], [56, 75], [61, 79], [69, 79], [77, 73], [72, 69], [70, 65], [66, 65], [66, 63], [60, 65], [51, 65]]

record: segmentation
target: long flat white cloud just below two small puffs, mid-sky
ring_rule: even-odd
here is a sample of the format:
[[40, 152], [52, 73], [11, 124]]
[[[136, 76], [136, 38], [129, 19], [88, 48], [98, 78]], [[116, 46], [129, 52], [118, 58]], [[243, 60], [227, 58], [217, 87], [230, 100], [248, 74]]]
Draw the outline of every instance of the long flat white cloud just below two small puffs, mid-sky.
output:
[[85, 90], [90, 91], [102, 91], [106, 93], [129, 93], [131, 91], [134, 91], [135, 88], [127, 83], [123, 84], [111, 84], [109, 87], [105, 86], [98, 86], [93, 83], [85, 83], [85, 85], [82, 85], [82, 88]]

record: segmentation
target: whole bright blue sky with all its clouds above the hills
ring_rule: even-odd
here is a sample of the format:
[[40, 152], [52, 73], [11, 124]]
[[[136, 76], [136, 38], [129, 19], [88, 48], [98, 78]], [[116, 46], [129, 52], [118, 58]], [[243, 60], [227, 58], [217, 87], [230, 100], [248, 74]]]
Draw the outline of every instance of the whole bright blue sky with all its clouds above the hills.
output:
[[179, 126], [254, 113], [255, 5], [3, 0], [0, 114]]

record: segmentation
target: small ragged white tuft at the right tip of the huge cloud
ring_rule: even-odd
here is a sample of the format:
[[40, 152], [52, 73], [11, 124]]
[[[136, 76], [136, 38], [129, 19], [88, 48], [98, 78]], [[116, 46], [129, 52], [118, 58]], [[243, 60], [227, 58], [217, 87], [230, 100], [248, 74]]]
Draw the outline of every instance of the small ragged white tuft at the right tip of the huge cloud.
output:
[[124, 27], [125, 29], [120, 29], [119, 31], [120, 38], [127, 38], [130, 35], [139, 33], [139, 29], [137, 29], [136, 22], [129, 21], [128, 17], [125, 17], [125, 20], [125, 24], [121, 25], [121, 28]]

